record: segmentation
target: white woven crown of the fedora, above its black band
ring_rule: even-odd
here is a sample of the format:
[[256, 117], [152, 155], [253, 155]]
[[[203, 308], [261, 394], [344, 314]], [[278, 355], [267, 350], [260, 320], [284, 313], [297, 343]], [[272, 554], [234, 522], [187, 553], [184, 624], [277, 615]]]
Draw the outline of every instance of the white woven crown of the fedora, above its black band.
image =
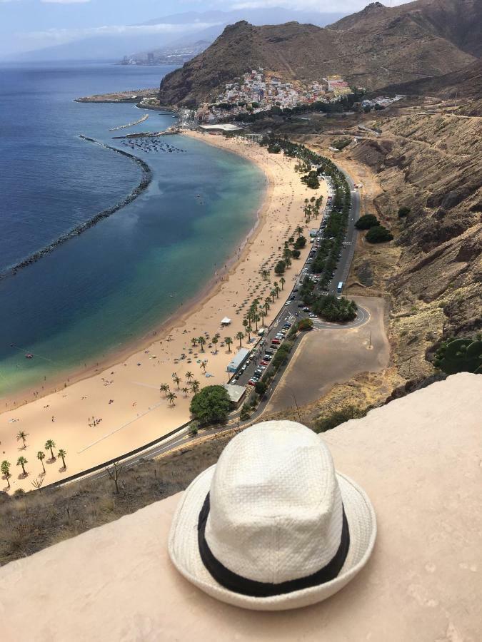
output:
[[221, 454], [206, 541], [230, 571], [273, 584], [311, 575], [336, 554], [342, 521], [331, 454], [301, 424], [263, 422]]

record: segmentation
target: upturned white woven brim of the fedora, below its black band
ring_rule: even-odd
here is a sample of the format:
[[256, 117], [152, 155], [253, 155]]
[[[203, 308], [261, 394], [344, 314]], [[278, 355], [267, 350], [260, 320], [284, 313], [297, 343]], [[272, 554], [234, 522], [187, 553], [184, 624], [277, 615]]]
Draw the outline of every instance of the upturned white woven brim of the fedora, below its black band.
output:
[[[211, 576], [198, 547], [198, 519], [209, 493], [215, 466], [202, 472], [186, 489], [174, 515], [169, 534], [169, 555], [186, 579], [223, 602], [256, 611], [283, 611], [308, 606], [332, 596], [353, 579], [368, 561], [376, 538], [376, 518], [371, 501], [354, 481], [336, 473], [350, 531], [350, 547], [338, 576], [319, 586], [272, 597], [251, 597], [229, 591]], [[315, 569], [313, 569], [315, 570]]]

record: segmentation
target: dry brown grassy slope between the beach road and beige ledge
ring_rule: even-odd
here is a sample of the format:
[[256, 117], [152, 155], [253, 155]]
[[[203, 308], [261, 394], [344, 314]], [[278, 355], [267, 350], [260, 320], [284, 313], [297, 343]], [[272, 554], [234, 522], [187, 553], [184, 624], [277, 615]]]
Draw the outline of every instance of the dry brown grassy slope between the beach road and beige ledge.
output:
[[184, 490], [217, 461], [233, 434], [126, 467], [119, 475], [119, 494], [108, 476], [18, 496], [0, 493], [0, 565]]

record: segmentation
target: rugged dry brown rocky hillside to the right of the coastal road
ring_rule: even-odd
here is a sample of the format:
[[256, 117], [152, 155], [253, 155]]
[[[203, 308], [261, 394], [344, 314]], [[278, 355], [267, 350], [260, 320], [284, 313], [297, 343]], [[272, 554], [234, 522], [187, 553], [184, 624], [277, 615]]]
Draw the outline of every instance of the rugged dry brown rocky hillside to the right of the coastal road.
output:
[[[378, 215], [396, 233], [396, 263], [381, 274], [391, 293], [391, 343], [402, 374], [428, 374], [426, 350], [471, 336], [482, 324], [482, 143], [480, 118], [412, 114], [379, 123], [381, 136], [344, 153], [378, 176]], [[411, 208], [399, 219], [402, 205]], [[355, 265], [376, 272], [378, 248]], [[371, 265], [373, 263], [373, 265]]]

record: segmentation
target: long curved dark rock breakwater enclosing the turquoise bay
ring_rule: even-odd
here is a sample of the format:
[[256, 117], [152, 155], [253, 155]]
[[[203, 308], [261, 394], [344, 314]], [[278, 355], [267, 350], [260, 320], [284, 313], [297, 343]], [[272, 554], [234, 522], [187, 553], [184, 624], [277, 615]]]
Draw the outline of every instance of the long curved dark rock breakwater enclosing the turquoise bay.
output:
[[27, 258], [24, 258], [19, 263], [16, 263], [16, 265], [11, 265], [10, 267], [7, 267], [3, 272], [0, 272], [0, 279], [4, 279], [7, 276], [15, 275], [16, 272], [18, 272], [18, 270], [21, 270], [22, 267], [31, 265], [31, 263], [36, 263], [36, 261], [41, 259], [46, 254], [53, 252], [54, 250], [56, 250], [56, 248], [59, 248], [60, 245], [63, 245], [69, 239], [74, 238], [74, 236], [78, 236], [83, 232], [86, 232], [86, 230], [89, 230], [90, 228], [93, 228], [94, 225], [99, 223], [100, 220], [107, 218], [111, 214], [114, 214], [115, 212], [119, 211], [121, 208], [124, 208], [126, 205], [129, 205], [129, 203], [132, 203], [133, 200], [135, 200], [142, 192], [144, 192], [144, 190], [146, 190], [146, 188], [149, 186], [149, 183], [151, 183], [151, 180], [152, 180], [151, 168], [149, 168], [149, 165], [145, 163], [138, 156], [134, 156], [134, 154], [130, 154], [129, 152], [123, 151], [121, 149], [116, 149], [115, 147], [111, 147], [110, 145], [106, 145], [104, 143], [101, 143], [100, 141], [96, 141], [95, 138], [89, 138], [89, 136], [84, 136], [83, 134], [80, 134], [79, 138], [82, 138], [83, 141], [89, 141], [89, 143], [95, 143], [96, 145], [100, 145], [101, 147], [110, 149], [111, 151], [121, 154], [122, 156], [127, 156], [127, 158], [130, 158], [131, 161], [134, 161], [134, 163], [136, 163], [137, 165], [139, 165], [139, 167], [141, 167], [142, 169], [141, 180], [139, 181], [138, 185], [136, 185], [136, 187], [131, 191], [131, 193], [129, 193], [129, 195], [126, 196], [126, 198], [123, 198], [122, 200], [120, 200], [118, 203], [116, 203], [116, 205], [112, 205], [112, 207], [107, 208], [106, 210], [102, 210], [101, 212], [94, 215], [92, 218], [89, 218], [89, 220], [84, 221], [84, 223], [80, 223], [79, 225], [76, 225], [75, 228], [72, 228], [68, 232], [64, 232], [58, 238], [56, 238], [56, 240], [49, 243], [49, 245], [46, 245], [45, 248], [42, 248], [41, 250], [36, 250], [36, 252], [32, 253]]

